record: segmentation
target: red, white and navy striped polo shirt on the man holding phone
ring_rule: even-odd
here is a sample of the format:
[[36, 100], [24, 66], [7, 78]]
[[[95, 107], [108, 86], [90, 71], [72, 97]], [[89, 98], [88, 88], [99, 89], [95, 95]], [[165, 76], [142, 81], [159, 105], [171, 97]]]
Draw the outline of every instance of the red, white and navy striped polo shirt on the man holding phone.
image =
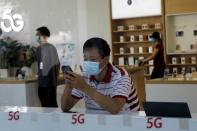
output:
[[[120, 68], [108, 64], [108, 71], [105, 75], [103, 82], [97, 82], [93, 77], [86, 79], [86, 82], [98, 92], [111, 98], [124, 98], [126, 103], [120, 113], [129, 113], [131, 111], [139, 111], [139, 100], [137, 90], [133, 86], [133, 82], [128, 73]], [[105, 111], [100, 107], [91, 97], [81, 92], [80, 90], [73, 89], [72, 96], [76, 99], [85, 100], [86, 112], [102, 112]]]

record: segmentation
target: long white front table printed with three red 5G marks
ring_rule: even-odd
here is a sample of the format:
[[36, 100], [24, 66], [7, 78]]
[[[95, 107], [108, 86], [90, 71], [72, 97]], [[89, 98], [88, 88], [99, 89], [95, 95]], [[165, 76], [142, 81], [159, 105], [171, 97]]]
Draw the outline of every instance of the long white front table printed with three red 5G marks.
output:
[[144, 112], [122, 115], [61, 113], [60, 109], [0, 107], [1, 131], [196, 131], [192, 119], [151, 118]]

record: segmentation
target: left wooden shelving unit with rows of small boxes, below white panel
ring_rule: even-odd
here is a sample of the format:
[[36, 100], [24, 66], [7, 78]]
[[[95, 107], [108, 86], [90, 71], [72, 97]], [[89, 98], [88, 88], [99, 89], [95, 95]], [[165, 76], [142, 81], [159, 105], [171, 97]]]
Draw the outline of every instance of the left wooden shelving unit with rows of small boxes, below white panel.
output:
[[[161, 28], [155, 29], [152, 25], [160, 23]], [[163, 15], [161, 16], [152, 16], [152, 17], [139, 17], [139, 18], [128, 18], [128, 19], [115, 19], [111, 20], [112, 26], [112, 53], [113, 53], [113, 63], [115, 65], [123, 65], [120, 67], [132, 67], [135, 65], [136, 60], [141, 58], [146, 58], [151, 53], [148, 53], [149, 47], [154, 46], [149, 39], [148, 36], [151, 35], [153, 32], [158, 31], [162, 34], [162, 38], [164, 37], [163, 33]], [[129, 25], [136, 25], [136, 27], [142, 28], [142, 25], [147, 24], [151, 27], [148, 29], [136, 29], [136, 30], [129, 30]], [[118, 26], [123, 26], [123, 30], [117, 30]], [[143, 36], [140, 39], [140, 35]], [[124, 41], [121, 41], [120, 38], [124, 37]], [[131, 40], [131, 36], [136, 37], [135, 41]], [[123, 48], [124, 52], [120, 53], [120, 48]], [[134, 51], [130, 53], [130, 49], [133, 48]], [[142, 53], [140, 48], [143, 48]], [[120, 63], [120, 59], [124, 63]], [[131, 66], [128, 66], [131, 65]], [[151, 69], [150, 69], [151, 68]], [[153, 69], [153, 65], [146, 64], [144, 65], [144, 75], [146, 78], [149, 78], [151, 74], [150, 71]]]

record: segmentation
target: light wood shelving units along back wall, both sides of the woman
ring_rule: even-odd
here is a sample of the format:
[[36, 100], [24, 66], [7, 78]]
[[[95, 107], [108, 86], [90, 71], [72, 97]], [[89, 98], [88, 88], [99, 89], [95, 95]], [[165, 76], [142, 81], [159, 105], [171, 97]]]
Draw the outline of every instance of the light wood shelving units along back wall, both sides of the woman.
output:
[[[186, 38], [188, 41], [183, 41], [181, 38], [176, 38], [175, 28], [181, 27], [181, 23], [188, 26], [185, 21], [189, 18], [180, 19], [181, 15], [197, 14], [197, 1], [196, 0], [161, 0], [162, 14], [158, 16], [148, 16], [148, 17], [131, 17], [124, 19], [113, 19], [111, 17], [111, 38], [112, 38], [112, 58], [115, 65], [122, 67], [133, 67], [135, 66], [135, 61], [139, 58], [148, 57], [151, 52], [149, 47], [154, 45], [148, 40], [148, 35], [152, 34], [154, 31], [161, 33], [165, 47], [165, 58], [167, 67], [170, 69], [170, 73], [177, 70], [177, 73], [182, 73], [183, 70], [197, 70], [197, 53], [196, 52], [175, 52], [177, 48], [177, 42], [180, 43], [184, 50], [189, 50], [195, 42], [197, 42], [197, 24], [194, 25], [191, 34], [194, 35], [192, 41], [190, 37]], [[179, 21], [179, 25], [176, 26], [176, 22]], [[191, 23], [190, 22], [190, 23]], [[160, 23], [161, 28], [155, 29], [155, 24]], [[149, 28], [146, 28], [148, 25]], [[173, 27], [174, 26], [174, 27]], [[191, 27], [191, 28], [193, 28]], [[145, 29], [144, 29], [145, 28]], [[182, 28], [182, 27], [181, 27]], [[178, 31], [181, 33], [181, 28]], [[190, 27], [189, 27], [190, 28]], [[178, 32], [179, 33], [179, 32]], [[142, 40], [139, 40], [140, 36], [145, 36]], [[174, 39], [174, 40], [173, 40]], [[185, 44], [187, 43], [187, 44]], [[193, 44], [195, 45], [195, 43]], [[187, 46], [187, 47], [186, 47]], [[173, 59], [176, 58], [177, 62], [174, 64]], [[184, 60], [185, 59], [185, 60]], [[196, 62], [194, 62], [196, 59]], [[184, 62], [185, 61], [185, 62]], [[192, 62], [193, 61], [193, 62]], [[151, 70], [153, 69], [152, 63], [146, 63], [144, 66], [145, 77], [149, 78]]]

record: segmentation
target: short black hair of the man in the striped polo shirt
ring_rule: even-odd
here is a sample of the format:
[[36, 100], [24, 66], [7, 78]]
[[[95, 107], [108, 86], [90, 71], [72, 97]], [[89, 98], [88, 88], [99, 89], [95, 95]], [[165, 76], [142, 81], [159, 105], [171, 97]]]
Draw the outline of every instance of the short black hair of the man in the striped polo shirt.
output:
[[85, 49], [89, 48], [98, 49], [98, 52], [102, 58], [110, 56], [110, 47], [108, 43], [102, 38], [93, 37], [88, 39], [83, 45], [83, 52]]

